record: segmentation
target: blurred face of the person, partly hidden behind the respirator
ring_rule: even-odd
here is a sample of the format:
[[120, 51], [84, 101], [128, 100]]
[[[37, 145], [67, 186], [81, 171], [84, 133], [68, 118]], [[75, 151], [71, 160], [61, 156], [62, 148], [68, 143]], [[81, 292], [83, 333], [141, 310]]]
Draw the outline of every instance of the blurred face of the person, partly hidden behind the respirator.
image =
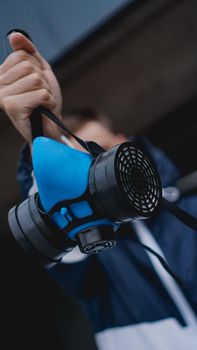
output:
[[[97, 121], [87, 122], [76, 132], [76, 134], [83, 140], [97, 142], [106, 150], [127, 141], [123, 134], [114, 134], [111, 130]], [[70, 138], [70, 141], [75, 148], [84, 151], [84, 149], [73, 138]]]

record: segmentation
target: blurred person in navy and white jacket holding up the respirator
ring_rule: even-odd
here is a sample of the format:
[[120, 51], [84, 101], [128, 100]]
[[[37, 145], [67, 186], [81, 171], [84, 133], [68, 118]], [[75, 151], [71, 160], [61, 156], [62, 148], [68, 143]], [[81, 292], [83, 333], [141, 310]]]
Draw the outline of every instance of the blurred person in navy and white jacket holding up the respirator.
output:
[[[61, 118], [61, 94], [50, 66], [32, 43], [19, 33], [11, 35], [10, 43], [14, 53], [0, 66], [0, 107], [31, 145], [29, 115], [42, 104]], [[100, 115], [85, 118], [82, 113], [74, 119], [72, 131], [105, 148], [126, 140], [114, 134]], [[44, 127], [47, 135], [61, 140], [54, 124], [45, 120]], [[179, 177], [176, 167], [161, 151], [146, 141], [145, 145], [163, 187], [172, 185]], [[26, 165], [23, 158], [20, 169]], [[29, 178], [32, 169], [26, 170]], [[180, 205], [197, 216], [196, 197], [182, 199]], [[133, 238], [164, 255], [184, 280], [184, 289]], [[196, 248], [197, 234], [163, 211], [146, 223], [122, 225], [113, 249], [88, 257], [71, 252], [49, 273], [80, 302], [99, 349], [193, 350], [197, 347]]]

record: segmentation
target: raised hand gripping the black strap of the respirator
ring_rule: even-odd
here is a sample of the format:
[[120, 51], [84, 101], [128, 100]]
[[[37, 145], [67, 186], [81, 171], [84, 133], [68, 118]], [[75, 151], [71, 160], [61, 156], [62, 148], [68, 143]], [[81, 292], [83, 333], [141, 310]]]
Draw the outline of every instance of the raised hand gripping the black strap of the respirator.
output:
[[[0, 65], [0, 108], [31, 143], [29, 116], [42, 105], [60, 117], [60, 87], [50, 65], [30, 40], [21, 33], [12, 33], [9, 41], [14, 52]], [[52, 121], [44, 117], [43, 125], [45, 134], [59, 138], [59, 130]]]

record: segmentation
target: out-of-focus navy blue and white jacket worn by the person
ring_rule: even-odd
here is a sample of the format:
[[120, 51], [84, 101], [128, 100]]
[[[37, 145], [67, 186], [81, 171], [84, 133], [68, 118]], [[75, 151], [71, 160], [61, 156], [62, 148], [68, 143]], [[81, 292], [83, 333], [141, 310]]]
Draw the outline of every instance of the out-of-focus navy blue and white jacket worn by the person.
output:
[[[145, 144], [155, 160], [162, 186], [173, 185], [180, 176], [175, 165], [162, 151], [147, 141]], [[27, 166], [24, 155], [23, 150], [18, 180], [27, 195], [32, 169]], [[197, 217], [196, 196], [182, 198], [177, 204]], [[183, 286], [175, 287], [193, 313], [195, 324], [197, 232], [164, 210], [154, 219], [146, 220], [145, 227], [171, 269], [184, 280]], [[149, 255], [133, 242], [133, 238], [139, 239], [134, 226], [122, 225], [113, 249], [78, 262], [60, 263], [49, 273], [79, 301], [91, 321], [100, 349], [197, 349], [197, 329], [196, 337], [193, 333], [191, 339], [188, 334], [186, 336], [186, 331], [191, 331], [190, 325], [176, 296], [172, 297], [170, 287], [155, 270]], [[161, 341], [166, 347], [159, 345]]]

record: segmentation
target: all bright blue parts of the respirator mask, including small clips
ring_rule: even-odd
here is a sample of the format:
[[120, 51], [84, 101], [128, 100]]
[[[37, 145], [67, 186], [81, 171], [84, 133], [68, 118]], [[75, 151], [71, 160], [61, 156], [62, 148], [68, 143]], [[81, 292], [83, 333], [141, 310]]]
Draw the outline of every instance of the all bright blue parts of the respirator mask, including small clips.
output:
[[[92, 162], [90, 154], [46, 137], [37, 137], [33, 142], [32, 160], [39, 198], [46, 213], [49, 213], [56, 204], [76, 200], [86, 192]], [[110, 225], [114, 230], [117, 228], [117, 225], [105, 218], [91, 220], [93, 210], [86, 200], [71, 203], [69, 210], [62, 206], [52, 215], [52, 220], [60, 229], [64, 229], [74, 220], [70, 213], [77, 219], [90, 217], [85, 224], [69, 232], [70, 238], [74, 238], [81, 230], [95, 225]]]

